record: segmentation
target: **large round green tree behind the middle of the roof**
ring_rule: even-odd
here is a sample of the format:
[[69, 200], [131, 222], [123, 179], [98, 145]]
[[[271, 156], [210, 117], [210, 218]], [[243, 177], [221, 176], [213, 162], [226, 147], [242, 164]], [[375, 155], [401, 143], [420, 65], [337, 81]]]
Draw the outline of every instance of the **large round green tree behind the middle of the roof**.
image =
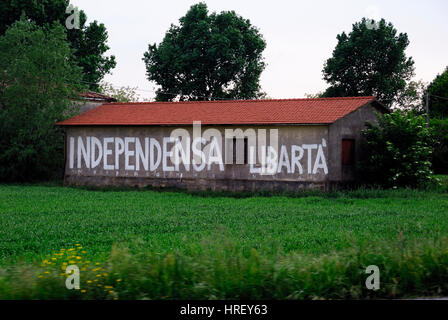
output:
[[266, 42], [249, 20], [233, 11], [208, 13], [193, 5], [144, 54], [157, 100], [251, 99], [260, 93]]

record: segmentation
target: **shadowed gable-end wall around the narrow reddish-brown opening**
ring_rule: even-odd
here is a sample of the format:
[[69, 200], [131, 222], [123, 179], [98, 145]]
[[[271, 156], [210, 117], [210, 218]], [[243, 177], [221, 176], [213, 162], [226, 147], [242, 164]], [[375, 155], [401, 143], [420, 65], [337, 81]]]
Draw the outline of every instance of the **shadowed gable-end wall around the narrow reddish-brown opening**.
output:
[[332, 123], [328, 129], [330, 154], [328, 158], [329, 181], [346, 182], [356, 179], [355, 166], [342, 165], [342, 140], [355, 140], [355, 163], [359, 160], [361, 131], [365, 128], [366, 121], [377, 122], [375, 112], [378, 112], [371, 104], [363, 106], [356, 111]]

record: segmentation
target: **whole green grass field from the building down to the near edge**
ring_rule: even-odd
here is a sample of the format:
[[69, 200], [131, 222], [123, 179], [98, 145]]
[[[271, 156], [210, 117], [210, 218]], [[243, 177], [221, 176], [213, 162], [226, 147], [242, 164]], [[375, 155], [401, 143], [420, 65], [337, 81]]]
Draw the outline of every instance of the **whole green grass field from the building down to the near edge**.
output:
[[[1, 185], [0, 298], [67, 297], [66, 289], [52, 289], [52, 294], [42, 289], [49, 284], [41, 281], [53, 283], [59, 274], [33, 279], [42, 273], [42, 261], [76, 244], [82, 246], [80, 258], [103, 264], [109, 277], [115, 274], [110, 281], [120, 280], [122, 290], [114, 286], [115, 298], [362, 298], [371, 295], [362, 288], [362, 268], [373, 262], [388, 272], [382, 274], [386, 285], [379, 296], [443, 294], [447, 288], [439, 282], [448, 279], [447, 215], [443, 190], [236, 198]], [[420, 263], [426, 275], [415, 275], [420, 271], [409, 266], [406, 284], [397, 284], [400, 275], [394, 272], [403, 272], [404, 262]], [[12, 279], [17, 283], [23, 268], [36, 269], [28, 275], [34, 289], [20, 289], [24, 283], [12, 292], [7, 285]], [[313, 270], [325, 279], [313, 278]], [[235, 287], [231, 279], [240, 284]], [[279, 279], [284, 283], [274, 283]], [[294, 279], [298, 287], [290, 287]], [[349, 283], [339, 283], [341, 291], [334, 281]], [[107, 298], [103, 291], [85, 296]]]

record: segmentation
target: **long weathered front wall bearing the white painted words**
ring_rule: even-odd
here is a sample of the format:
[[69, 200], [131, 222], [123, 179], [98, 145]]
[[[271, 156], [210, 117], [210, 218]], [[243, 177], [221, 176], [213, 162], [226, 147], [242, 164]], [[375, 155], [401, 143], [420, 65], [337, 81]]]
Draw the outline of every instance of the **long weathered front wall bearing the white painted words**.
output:
[[[280, 169], [277, 168], [275, 174], [260, 174], [255, 171], [262, 167], [261, 160], [257, 158], [256, 164], [226, 164], [225, 152], [225, 129], [236, 129], [232, 126], [202, 127], [202, 135], [207, 137], [208, 129], [215, 129], [222, 135], [222, 161], [219, 165], [213, 163], [203, 170], [195, 170], [190, 165], [189, 170], [181, 163], [178, 170], [173, 166], [171, 159], [166, 157], [164, 165], [164, 138], [170, 136], [171, 132], [178, 127], [163, 126], [89, 126], [89, 127], [67, 127], [66, 129], [66, 170], [65, 181], [68, 184], [76, 185], [131, 185], [143, 187], [153, 186], [174, 186], [188, 189], [212, 189], [212, 190], [300, 190], [303, 188], [324, 188], [328, 180], [328, 170], [326, 170], [326, 159], [328, 159], [328, 126], [259, 126], [240, 127], [242, 130], [254, 129], [265, 130], [267, 133], [267, 145], [270, 145], [269, 136], [272, 131], [278, 130], [278, 156], [281, 157]], [[183, 127], [193, 137], [192, 127]], [[96, 164], [92, 163], [92, 148], [87, 147], [87, 137], [90, 140], [95, 137], [102, 145], [103, 156]], [[125, 138], [138, 138], [139, 144], [145, 148], [145, 138], [153, 138], [160, 144], [162, 159], [157, 168], [153, 170], [151, 165], [144, 167], [141, 158], [136, 163], [136, 157], [128, 158], [126, 168], [126, 155], [119, 154], [119, 145], [116, 149], [115, 142], [125, 140]], [[109, 140], [107, 140], [107, 138]], [[79, 140], [81, 139], [81, 140]], [[107, 163], [104, 163], [104, 142], [108, 142]], [[134, 140], [135, 141], [135, 140]], [[82, 142], [78, 146], [78, 142]], [[198, 144], [197, 146], [199, 146]], [[202, 145], [204, 147], [210, 144]], [[150, 145], [148, 145], [150, 146]], [[167, 149], [173, 144], [166, 144]], [[293, 147], [294, 146], [294, 147]], [[80, 148], [81, 147], [81, 148]], [[90, 154], [87, 154], [90, 149]], [[129, 151], [136, 154], [136, 141], [130, 143]], [[80, 148], [80, 150], [78, 150]], [[294, 149], [293, 149], [294, 148]], [[151, 149], [151, 148], [150, 148]], [[284, 149], [284, 150], [282, 150]], [[320, 149], [320, 151], [319, 151]], [[141, 150], [141, 149], [140, 149]], [[90, 159], [87, 166], [85, 156]], [[148, 157], [151, 157], [149, 151]], [[110, 152], [110, 153], [109, 153]], [[320, 152], [320, 155], [318, 155]], [[158, 150], [154, 149], [154, 159], [158, 158]], [[116, 158], [116, 154], [119, 156]], [[78, 161], [78, 156], [80, 161]], [[295, 158], [293, 158], [295, 157]], [[99, 158], [99, 147], [95, 147], [95, 156]], [[319, 159], [317, 159], [319, 158]], [[96, 160], [94, 159], [94, 160]], [[193, 154], [190, 154], [193, 159]], [[116, 161], [118, 160], [118, 161]], [[317, 160], [317, 161], [316, 161]], [[156, 161], [153, 161], [156, 162]], [[118, 164], [118, 166], [116, 165]], [[317, 166], [316, 166], [317, 164]], [[174, 168], [173, 168], [174, 167]], [[325, 167], [325, 168], [323, 168]]]

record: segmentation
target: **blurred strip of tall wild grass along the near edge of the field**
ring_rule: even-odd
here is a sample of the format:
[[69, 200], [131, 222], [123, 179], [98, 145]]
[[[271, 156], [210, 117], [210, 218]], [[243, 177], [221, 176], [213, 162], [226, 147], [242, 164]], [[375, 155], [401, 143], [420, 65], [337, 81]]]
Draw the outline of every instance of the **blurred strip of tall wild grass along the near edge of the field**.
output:
[[[377, 291], [365, 286], [369, 265], [380, 269]], [[22, 264], [0, 269], [0, 299], [372, 299], [446, 295], [448, 239], [408, 243], [403, 238], [394, 245], [366, 243], [323, 255], [244, 251], [225, 239], [205, 243], [190, 254], [132, 254], [125, 247], [114, 246], [107, 261], [81, 272], [82, 292], [65, 288], [65, 276], [59, 267]], [[99, 278], [95, 277], [98, 268]], [[93, 283], [92, 279], [99, 281]]]

